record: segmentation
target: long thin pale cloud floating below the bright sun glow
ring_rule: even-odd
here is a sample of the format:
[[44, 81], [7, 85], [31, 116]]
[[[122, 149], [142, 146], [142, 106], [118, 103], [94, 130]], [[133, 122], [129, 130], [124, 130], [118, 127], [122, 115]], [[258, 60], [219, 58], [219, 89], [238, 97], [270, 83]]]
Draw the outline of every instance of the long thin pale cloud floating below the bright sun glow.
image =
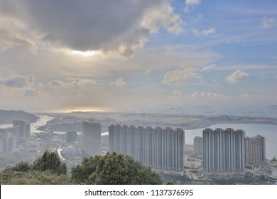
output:
[[48, 82], [50, 87], [85, 87], [87, 85], [95, 85], [96, 81], [89, 78], [79, 78], [79, 77], [66, 77], [65, 81], [53, 80]]

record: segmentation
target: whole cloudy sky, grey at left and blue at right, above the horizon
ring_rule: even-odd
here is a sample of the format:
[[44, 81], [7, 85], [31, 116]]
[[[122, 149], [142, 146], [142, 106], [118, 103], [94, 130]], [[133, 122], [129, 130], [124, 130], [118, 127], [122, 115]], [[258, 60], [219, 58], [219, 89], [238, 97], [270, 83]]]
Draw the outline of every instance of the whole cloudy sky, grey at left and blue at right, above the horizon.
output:
[[275, 0], [0, 0], [0, 109], [273, 105]]

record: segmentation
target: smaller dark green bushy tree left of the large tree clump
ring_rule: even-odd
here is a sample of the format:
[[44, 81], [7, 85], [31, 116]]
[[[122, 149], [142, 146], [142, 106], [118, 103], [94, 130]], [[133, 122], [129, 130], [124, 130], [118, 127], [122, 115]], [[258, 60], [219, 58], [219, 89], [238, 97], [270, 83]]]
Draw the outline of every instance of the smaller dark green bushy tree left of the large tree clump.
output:
[[36, 171], [51, 171], [58, 175], [67, 173], [66, 165], [60, 161], [58, 154], [48, 150], [44, 152], [42, 157], [33, 162], [32, 169]]

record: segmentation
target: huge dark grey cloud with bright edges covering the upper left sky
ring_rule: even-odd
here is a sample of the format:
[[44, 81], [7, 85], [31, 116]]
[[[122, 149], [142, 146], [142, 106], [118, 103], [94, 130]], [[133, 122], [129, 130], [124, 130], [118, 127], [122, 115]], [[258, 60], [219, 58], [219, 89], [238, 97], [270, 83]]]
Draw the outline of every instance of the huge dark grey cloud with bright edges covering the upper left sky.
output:
[[0, 18], [7, 18], [0, 21], [5, 36], [1, 34], [0, 49], [43, 42], [55, 48], [130, 56], [160, 28], [180, 33], [183, 26], [167, 0], [0, 2], [0, 8], [4, 6], [9, 12], [0, 12]]

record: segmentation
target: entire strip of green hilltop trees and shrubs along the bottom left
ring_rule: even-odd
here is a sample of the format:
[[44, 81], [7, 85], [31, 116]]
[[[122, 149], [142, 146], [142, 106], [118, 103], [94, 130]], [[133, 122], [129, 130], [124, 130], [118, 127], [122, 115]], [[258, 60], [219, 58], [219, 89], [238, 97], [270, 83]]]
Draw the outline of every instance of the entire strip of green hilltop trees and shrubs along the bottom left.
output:
[[67, 172], [65, 163], [55, 152], [45, 151], [33, 164], [17, 163], [0, 172], [0, 184], [162, 184], [161, 176], [123, 154], [106, 154], [84, 158]]

